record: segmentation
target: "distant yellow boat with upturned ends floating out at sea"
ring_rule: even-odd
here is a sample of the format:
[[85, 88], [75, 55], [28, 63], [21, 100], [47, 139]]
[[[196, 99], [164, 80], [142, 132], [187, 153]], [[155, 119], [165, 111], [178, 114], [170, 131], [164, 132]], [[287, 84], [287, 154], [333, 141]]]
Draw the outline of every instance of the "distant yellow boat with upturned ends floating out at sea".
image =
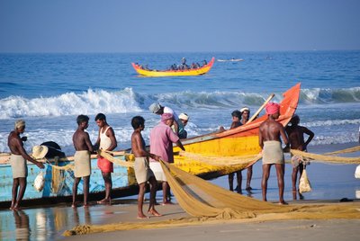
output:
[[184, 69], [184, 70], [149, 70], [144, 69], [139, 64], [131, 63], [132, 67], [138, 72], [140, 76], [162, 77], [162, 76], [202, 76], [208, 73], [215, 61], [212, 57], [211, 61], [198, 68]]

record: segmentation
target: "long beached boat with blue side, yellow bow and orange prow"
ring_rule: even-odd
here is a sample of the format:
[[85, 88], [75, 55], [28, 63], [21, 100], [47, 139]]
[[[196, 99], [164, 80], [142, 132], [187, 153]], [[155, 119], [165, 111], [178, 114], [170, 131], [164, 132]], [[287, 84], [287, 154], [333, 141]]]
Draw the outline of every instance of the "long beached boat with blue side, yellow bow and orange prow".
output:
[[[299, 94], [300, 84], [294, 85], [284, 93], [284, 99], [280, 103], [281, 115], [278, 119], [284, 126], [296, 111]], [[261, 157], [258, 155], [261, 151], [258, 146], [258, 128], [266, 119], [265, 114], [255, 121], [239, 126], [236, 129], [183, 139], [182, 143], [186, 152], [182, 153], [178, 147], [174, 147], [176, 154], [174, 165], [204, 179], [211, 179], [242, 170]], [[136, 183], [133, 168], [130, 167], [130, 163], [134, 159], [130, 154], [130, 150], [115, 152], [112, 155], [110, 159], [115, 163], [112, 174], [112, 198], [137, 194], [139, 187]], [[0, 155], [0, 176], [3, 180], [0, 183], [0, 209], [7, 209], [11, 204], [13, 177], [9, 157], [9, 154]], [[34, 180], [40, 169], [29, 163], [29, 175], [23, 206], [72, 201], [74, 173], [70, 168], [63, 168], [62, 170], [60, 168], [61, 166], [71, 165], [73, 157], [67, 156], [65, 159], [50, 161], [44, 171], [45, 185], [40, 192], [33, 187]], [[101, 200], [104, 196], [103, 177], [96, 165], [97, 159], [95, 155], [92, 156], [91, 162], [92, 174], [90, 177], [89, 200]], [[82, 188], [82, 182], [80, 182], [78, 186], [80, 195], [82, 194]]]

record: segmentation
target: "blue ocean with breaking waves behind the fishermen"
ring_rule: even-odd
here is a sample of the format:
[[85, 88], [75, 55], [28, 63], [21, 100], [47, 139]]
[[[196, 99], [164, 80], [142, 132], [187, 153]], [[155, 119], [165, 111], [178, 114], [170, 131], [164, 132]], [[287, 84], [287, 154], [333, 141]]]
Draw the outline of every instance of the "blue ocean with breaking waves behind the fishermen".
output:
[[[138, 62], [165, 69], [179, 64], [215, 61], [204, 76], [141, 77]], [[94, 116], [103, 112], [112, 125], [118, 148], [130, 147], [130, 120], [146, 120], [143, 136], [158, 116], [148, 111], [159, 102], [190, 116], [189, 137], [229, 128], [230, 113], [248, 106], [256, 112], [269, 94], [302, 83], [297, 113], [301, 124], [315, 132], [311, 145], [356, 142], [360, 125], [360, 51], [289, 51], [227, 53], [66, 53], [0, 54], [0, 152], [8, 152], [7, 136], [14, 121], [26, 121], [24, 147], [53, 140], [74, 154], [76, 116], [89, 115], [92, 141], [98, 128]]]

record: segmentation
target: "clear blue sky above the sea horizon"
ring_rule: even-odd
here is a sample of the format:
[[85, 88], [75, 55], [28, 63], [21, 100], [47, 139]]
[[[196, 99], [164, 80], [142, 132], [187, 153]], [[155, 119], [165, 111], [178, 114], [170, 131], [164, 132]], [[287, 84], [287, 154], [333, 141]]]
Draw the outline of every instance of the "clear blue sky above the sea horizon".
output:
[[360, 49], [358, 0], [0, 0], [0, 52]]

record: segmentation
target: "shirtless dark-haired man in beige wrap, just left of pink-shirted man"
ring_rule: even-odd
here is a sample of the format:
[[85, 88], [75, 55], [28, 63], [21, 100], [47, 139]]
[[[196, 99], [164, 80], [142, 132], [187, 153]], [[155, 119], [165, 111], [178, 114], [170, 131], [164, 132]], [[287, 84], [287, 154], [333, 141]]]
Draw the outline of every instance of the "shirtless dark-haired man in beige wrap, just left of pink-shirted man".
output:
[[146, 190], [146, 183], [150, 183], [150, 203], [148, 204], [148, 214], [154, 216], [161, 216], [155, 210], [155, 195], [157, 193], [157, 180], [154, 173], [151, 171], [148, 164], [148, 157], [158, 161], [160, 156], [149, 153], [145, 149], [145, 140], [141, 136], [141, 131], [145, 128], [145, 120], [141, 116], [135, 116], [131, 120], [131, 126], [134, 129], [131, 135], [131, 150], [135, 156], [135, 176], [139, 183], [139, 196], [138, 196], [138, 219], [148, 218], [142, 211], [144, 203], [144, 194]]

